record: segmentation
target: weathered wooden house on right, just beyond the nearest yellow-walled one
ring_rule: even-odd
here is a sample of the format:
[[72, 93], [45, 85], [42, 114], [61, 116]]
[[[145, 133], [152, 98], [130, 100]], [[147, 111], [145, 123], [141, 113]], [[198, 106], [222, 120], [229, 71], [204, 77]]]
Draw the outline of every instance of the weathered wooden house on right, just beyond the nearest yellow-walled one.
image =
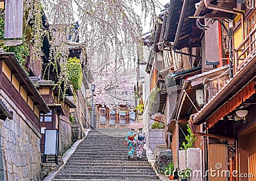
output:
[[[227, 2], [225, 7], [230, 5], [228, 3], [230, 2]], [[200, 6], [197, 6], [199, 4]], [[186, 124], [188, 124], [189, 117], [191, 115], [193, 117], [205, 106], [205, 103], [216, 96], [216, 93], [225, 87], [233, 75], [230, 51], [232, 50], [230, 39], [232, 29], [228, 29], [228, 21], [223, 19], [234, 18], [234, 15], [242, 11], [231, 11], [230, 8], [217, 8], [216, 5], [208, 5], [207, 1], [202, 3], [199, 1], [170, 1], [166, 25], [164, 25], [164, 21], [162, 25], [165, 29], [161, 31], [161, 38], [156, 43], [159, 50], [171, 52], [173, 69], [169, 68], [168, 74], [165, 75], [168, 101], [164, 115], [167, 117], [168, 125], [166, 129], [167, 147], [173, 150], [173, 161], [177, 168], [181, 166], [178, 151], [188, 134]], [[241, 44], [242, 47], [244, 45]], [[238, 55], [240, 54], [238, 53]], [[166, 57], [164, 57], [164, 62]], [[161, 73], [164, 76], [166, 72], [161, 71]], [[230, 124], [228, 125], [230, 126]], [[220, 127], [223, 128], [223, 125]], [[196, 127], [196, 130], [193, 127], [193, 131], [202, 130], [204, 130], [203, 125]], [[214, 130], [216, 131], [216, 129]], [[209, 134], [207, 133], [207, 138], [212, 138], [212, 140], [216, 138], [216, 135]], [[204, 145], [202, 140], [205, 137], [202, 134], [196, 134], [196, 136], [198, 137], [194, 147]], [[229, 137], [226, 135], [225, 138]], [[204, 149], [202, 157], [206, 164], [205, 152]], [[200, 163], [200, 159], [198, 159], [198, 163]], [[205, 164], [202, 164], [204, 171], [208, 168]], [[198, 170], [201, 169], [199, 166]]]

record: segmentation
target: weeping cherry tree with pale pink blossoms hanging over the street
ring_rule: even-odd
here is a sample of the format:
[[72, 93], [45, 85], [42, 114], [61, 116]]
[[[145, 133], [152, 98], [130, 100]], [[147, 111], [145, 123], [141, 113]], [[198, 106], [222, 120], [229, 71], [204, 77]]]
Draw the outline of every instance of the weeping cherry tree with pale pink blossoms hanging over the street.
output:
[[[156, 8], [163, 8], [157, 0], [24, 0], [28, 21], [33, 20], [33, 55], [41, 56], [42, 36], [51, 36], [51, 61], [59, 62], [59, 79], [67, 84], [67, 60], [74, 13], [79, 18], [79, 44], [83, 47], [81, 63], [87, 62], [96, 85], [96, 103], [107, 105], [134, 105], [136, 83], [136, 52], [141, 45], [141, 19], [156, 21]], [[38, 4], [42, 4], [42, 6]], [[137, 15], [134, 8], [141, 8]], [[45, 30], [40, 24], [42, 10], [50, 25]], [[40, 38], [41, 37], [41, 38]]]

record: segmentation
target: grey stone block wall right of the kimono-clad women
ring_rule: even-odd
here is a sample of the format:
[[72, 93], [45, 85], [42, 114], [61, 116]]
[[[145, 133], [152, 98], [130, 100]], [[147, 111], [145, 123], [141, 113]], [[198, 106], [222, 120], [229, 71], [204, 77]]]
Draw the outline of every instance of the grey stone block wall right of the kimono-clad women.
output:
[[155, 145], [165, 143], [164, 129], [148, 129], [148, 147], [153, 151]]

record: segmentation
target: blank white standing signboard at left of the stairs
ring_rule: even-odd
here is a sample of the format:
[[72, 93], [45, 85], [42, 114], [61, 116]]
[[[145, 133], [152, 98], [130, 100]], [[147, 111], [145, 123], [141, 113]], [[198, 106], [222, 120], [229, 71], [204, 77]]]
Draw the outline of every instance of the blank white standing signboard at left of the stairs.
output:
[[57, 155], [58, 152], [58, 130], [45, 130], [44, 154]]

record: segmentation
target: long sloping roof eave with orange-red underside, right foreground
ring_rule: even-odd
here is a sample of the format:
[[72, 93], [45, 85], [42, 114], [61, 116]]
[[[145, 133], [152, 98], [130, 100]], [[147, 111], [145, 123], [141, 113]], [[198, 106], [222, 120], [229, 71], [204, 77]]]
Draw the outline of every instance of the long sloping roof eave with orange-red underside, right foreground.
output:
[[253, 78], [256, 72], [256, 55], [253, 55], [243, 69], [205, 107], [195, 115], [193, 124], [200, 125], [205, 121], [209, 127], [218, 122], [224, 113], [231, 112], [245, 99], [255, 93]]

